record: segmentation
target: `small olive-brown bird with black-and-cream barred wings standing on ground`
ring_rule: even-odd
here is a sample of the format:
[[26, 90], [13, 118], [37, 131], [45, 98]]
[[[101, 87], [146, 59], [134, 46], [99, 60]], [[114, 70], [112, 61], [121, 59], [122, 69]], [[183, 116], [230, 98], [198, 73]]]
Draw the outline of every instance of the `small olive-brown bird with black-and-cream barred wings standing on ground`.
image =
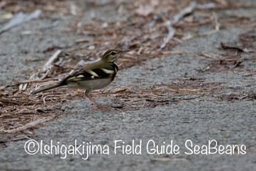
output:
[[99, 105], [94, 99], [91, 98], [91, 91], [105, 88], [108, 86], [116, 77], [118, 72], [118, 66], [116, 60], [122, 53], [129, 52], [130, 50], [116, 50], [110, 49], [104, 53], [99, 61], [85, 66], [83, 69], [64, 77], [59, 83], [45, 88], [40, 88], [37, 91], [31, 92], [31, 94], [38, 94], [42, 91], [48, 91], [53, 88], [78, 88], [84, 89], [85, 95], [96, 107], [91, 108], [92, 110], [110, 110], [109, 106]]

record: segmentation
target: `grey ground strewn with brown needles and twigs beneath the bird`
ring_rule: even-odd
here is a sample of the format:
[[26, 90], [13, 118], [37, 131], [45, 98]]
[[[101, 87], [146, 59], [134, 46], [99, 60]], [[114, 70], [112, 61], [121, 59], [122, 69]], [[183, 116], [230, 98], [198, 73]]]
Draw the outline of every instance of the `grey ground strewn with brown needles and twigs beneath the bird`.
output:
[[[0, 27], [10, 12], [41, 10], [0, 34], [0, 170], [256, 170], [256, 1], [19, 0], [0, 8]], [[113, 83], [92, 94], [113, 110], [90, 110], [81, 90], [29, 94], [116, 47], [132, 51], [118, 60]], [[40, 147], [34, 155], [31, 140]], [[115, 154], [115, 140], [141, 153]], [[179, 153], [149, 153], [151, 140], [173, 142]], [[188, 154], [189, 140], [198, 154]], [[214, 140], [236, 148], [204, 154]], [[64, 148], [44, 153], [45, 145], [105, 145], [109, 153], [64, 157]]]

